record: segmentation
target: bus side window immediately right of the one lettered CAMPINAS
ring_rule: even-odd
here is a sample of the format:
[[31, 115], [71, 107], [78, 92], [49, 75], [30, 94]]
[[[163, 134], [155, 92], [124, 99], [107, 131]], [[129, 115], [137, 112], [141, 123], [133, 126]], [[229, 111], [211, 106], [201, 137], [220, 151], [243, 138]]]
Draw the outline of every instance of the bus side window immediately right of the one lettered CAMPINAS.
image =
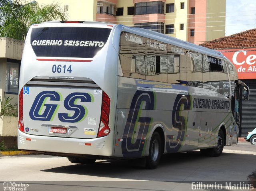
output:
[[218, 93], [229, 97], [230, 87], [226, 64], [222, 59], [217, 59], [217, 63], [217, 91]]

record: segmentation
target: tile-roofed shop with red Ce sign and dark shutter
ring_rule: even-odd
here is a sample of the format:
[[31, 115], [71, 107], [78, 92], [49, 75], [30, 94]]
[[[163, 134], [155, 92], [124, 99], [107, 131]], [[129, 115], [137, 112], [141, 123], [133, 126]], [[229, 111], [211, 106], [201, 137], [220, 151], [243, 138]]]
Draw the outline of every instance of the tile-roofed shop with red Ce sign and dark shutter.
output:
[[[222, 52], [236, 67], [238, 79], [250, 89], [248, 101], [242, 100], [241, 128], [239, 136], [256, 128], [256, 28], [201, 44], [204, 47]], [[242, 92], [242, 89], [240, 89]]]

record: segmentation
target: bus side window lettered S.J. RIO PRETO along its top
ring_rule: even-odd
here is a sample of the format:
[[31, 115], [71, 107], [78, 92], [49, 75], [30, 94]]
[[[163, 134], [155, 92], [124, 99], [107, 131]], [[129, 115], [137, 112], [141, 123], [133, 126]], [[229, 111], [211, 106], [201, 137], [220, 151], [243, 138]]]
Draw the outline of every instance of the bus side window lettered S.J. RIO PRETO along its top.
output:
[[167, 83], [167, 44], [145, 38], [146, 80]]

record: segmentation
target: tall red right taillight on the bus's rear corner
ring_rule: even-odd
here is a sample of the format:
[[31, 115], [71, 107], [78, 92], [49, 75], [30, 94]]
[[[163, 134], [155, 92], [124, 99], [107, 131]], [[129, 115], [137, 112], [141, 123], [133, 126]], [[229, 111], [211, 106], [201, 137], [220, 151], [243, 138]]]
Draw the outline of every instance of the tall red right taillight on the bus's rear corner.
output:
[[102, 93], [102, 104], [101, 104], [100, 126], [99, 126], [97, 137], [104, 137], [104, 136], [107, 136], [110, 133], [110, 128], [108, 126], [109, 110], [110, 110], [110, 98], [103, 91], [103, 93]]

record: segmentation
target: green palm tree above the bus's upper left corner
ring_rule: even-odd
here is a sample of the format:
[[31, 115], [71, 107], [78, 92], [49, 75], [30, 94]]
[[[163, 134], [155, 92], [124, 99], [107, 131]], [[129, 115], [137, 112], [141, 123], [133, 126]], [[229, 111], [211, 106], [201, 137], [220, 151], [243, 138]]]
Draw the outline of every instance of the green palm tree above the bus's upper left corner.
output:
[[39, 6], [36, 1], [0, 0], [0, 37], [24, 40], [32, 24], [67, 20], [67, 17], [59, 4]]

